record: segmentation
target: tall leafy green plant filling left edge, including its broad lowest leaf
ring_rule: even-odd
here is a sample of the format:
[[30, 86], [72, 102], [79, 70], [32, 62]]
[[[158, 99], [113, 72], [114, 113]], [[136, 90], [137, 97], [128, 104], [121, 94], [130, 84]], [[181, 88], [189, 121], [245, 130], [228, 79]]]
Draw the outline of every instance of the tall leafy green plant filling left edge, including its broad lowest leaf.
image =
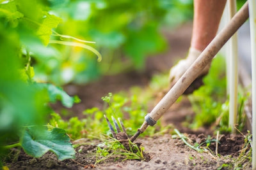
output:
[[[60, 87], [37, 82], [35, 78], [36, 62], [44, 62], [52, 53], [56, 54], [54, 48], [47, 45], [54, 43], [50, 39], [52, 29], [61, 19], [49, 10], [47, 1], [0, 1], [0, 38], [4, 42], [0, 44], [1, 160], [6, 149], [16, 146], [35, 157], [48, 150], [56, 153], [60, 160], [74, 157], [64, 130], [38, 131], [34, 128], [46, 124], [52, 112], [49, 103], [61, 101], [63, 106], [70, 108], [79, 102], [77, 97], [68, 96]], [[52, 142], [56, 145], [50, 146]]]

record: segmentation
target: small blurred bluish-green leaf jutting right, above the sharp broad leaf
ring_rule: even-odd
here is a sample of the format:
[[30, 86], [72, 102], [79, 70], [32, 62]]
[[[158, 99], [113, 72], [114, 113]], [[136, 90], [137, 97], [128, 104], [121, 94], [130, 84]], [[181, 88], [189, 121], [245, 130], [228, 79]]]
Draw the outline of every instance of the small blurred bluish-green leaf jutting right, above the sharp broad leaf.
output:
[[52, 103], [60, 100], [63, 106], [67, 108], [71, 108], [74, 103], [79, 103], [79, 99], [77, 99], [77, 97], [68, 96], [68, 94], [60, 87], [56, 87], [48, 83], [38, 83], [38, 86], [47, 89], [50, 102]]

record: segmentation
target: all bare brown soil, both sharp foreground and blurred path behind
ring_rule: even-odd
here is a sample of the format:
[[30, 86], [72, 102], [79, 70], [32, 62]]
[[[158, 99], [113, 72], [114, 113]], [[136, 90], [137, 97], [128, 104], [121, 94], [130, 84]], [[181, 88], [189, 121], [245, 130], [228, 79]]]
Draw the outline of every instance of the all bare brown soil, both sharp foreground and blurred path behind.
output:
[[[177, 60], [185, 57], [191, 38], [191, 23], [177, 27], [173, 31], [163, 31], [163, 34], [166, 35], [170, 49], [157, 55], [157, 57], [149, 57], [143, 73], [133, 71], [115, 76], [105, 76], [87, 85], [67, 85], [65, 90], [68, 94], [78, 95], [82, 100], [70, 111], [77, 113], [76, 116], [82, 118], [82, 112], [85, 109], [102, 108], [101, 97], [106, 96], [108, 92], [115, 93], [120, 90], [128, 90], [134, 85], [147, 87], [153, 74], [168, 71]], [[54, 107], [58, 110], [58, 104]], [[153, 107], [150, 106], [149, 108], [152, 109]], [[196, 131], [191, 131], [191, 129], [182, 126], [182, 122], [188, 116], [193, 116], [193, 110], [187, 97], [183, 97], [181, 102], [173, 104], [167, 112], [161, 118], [161, 123], [164, 126], [172, 125], [172, 127], [179, 129], [191, 143], [204, 142], [208, 134], [212, 136], [212, 139], [216, 139], [216, 136], [212, 134], [211, 127], [202, 127]], [[243, 169], [252, 169], [249, 160], [240, 161], [240, 153], [244, 151], [242, 150], [244, 136], [220, 134], [218, 140], [220, 141], [218, 146], [216, 142], [209, 145], [212, 152], [198, 152], [172, 134], [160, 134], [150, 138], [139, 137], [136, 139], [136, 143], [141, 143], [145, 147], [144, 154], [148, 161], [122, 161], [122, 157], [119, 159], [115, 157], [95, 165], [96, 146], [101, 141], [79, 139], [73, 143], [87, 144], [76, 148], [76, 159], [59, 161], [51, 152], [40, 158], [33, 158], [26, 155], [22, 150], [19, 152], [19, 150], [13, 149], [5, 162], [10, 169], [234, 169], [235, 164], [242, 164]], [[218, 155], [215, 154], [216, 152]], [[244, 151], [245, 154], [248, 154], [248, 150]]]

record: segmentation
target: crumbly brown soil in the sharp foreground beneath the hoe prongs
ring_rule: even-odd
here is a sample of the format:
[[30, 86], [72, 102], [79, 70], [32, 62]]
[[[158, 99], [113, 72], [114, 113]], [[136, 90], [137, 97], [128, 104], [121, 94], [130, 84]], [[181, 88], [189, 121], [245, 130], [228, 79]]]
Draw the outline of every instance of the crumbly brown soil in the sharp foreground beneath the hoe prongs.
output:
[[[192, 142], [205, 141], [205, 134], [189, 134]], [[80, 139], [79, 142], [90, 142], [88, 145], [79, 146], [76, 149], [76, 159], [59, 161], [56, 156], [49, 152], [43, 157], [33, 158], [24, 152], [10, 154], [10, 162], [6, 166], [10, 169], [218, 169], [223, 165], [234, 169], [235, 162], [239, 159], [239, 153], [244, 139], [241, 135], [220, 136], [218, 146], [219, 156], [214, 155], [216, 143], [209, 148], [214, 152], [197, 152], [185, 145], [180, 139], [172, 138], [170, 134], [155, 136], [152, 138], [138, 138], [138, 142], [145, 147], [146, 160], [125, 160], [120, 157], [107, 159], [95, 165], [96, 146], [100, 141], [88, 141]], [[14, 154], [16, 153], [16, 154]], [[248, 160], [241, 162], [243, 169], [252, 169]]]

